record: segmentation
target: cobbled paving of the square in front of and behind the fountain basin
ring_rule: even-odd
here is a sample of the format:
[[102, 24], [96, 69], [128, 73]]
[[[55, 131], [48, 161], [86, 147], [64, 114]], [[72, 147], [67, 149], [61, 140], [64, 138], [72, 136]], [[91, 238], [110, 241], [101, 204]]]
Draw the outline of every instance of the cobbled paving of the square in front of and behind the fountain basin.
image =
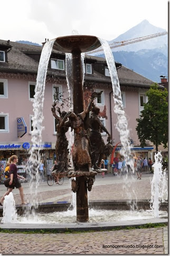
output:
[[[89, 200], [150, 199], [150, 179], [146, 173], [141, 180], [134, 175], [115, 177], [111, 174], [96, 177]], [[25, 198], [29, 198], [29, 184], [22, 184]], [[0, 185], [0, 195], [5, 191]], [[39, 202], [71, 202], [71, 184], [64, 178], [62, 186], [49, 187], [46, 181], [38, 188]], [[16, 203], [20, 203], [18, 189], [13, 190]], [[13, 243], [11, 243], [13, 241]], [[20, 234], [0, 233], [2, 254], [167, 254], [167, 227], [86, 232], [77, 234]]]

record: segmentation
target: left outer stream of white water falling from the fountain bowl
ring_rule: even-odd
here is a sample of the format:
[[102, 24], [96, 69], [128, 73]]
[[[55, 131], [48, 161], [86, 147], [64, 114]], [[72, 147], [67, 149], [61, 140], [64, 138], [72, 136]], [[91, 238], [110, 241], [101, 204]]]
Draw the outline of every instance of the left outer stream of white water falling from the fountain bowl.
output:
[[[43, 122], [43, 102], [44, 102], [44, 90], [45, 90], [45, 79], [46, 72], [48, 69], [48, 63], [51, 55], [55, 40], [50, 40], [44, 44], [42, 49], [39, 69], [37, 72], [35, 95], [33, 102], [33, 112], [32, 117], [32, 144], [33, 147], [30, 149], [30, 158], [26, 166], [26, 172], [29, 173], [31, 177], [30, 182], [30, 198], [29, 206], [30, 209], [33, 205], [37, 207], [37, 187], [39, 186], [40, 176], [39, 176], [39, 164], [40, 164], [40, 145], [42, 142], [42, 131], [44, 129]], [[35, 182], [34, 182], [35, 181]]]

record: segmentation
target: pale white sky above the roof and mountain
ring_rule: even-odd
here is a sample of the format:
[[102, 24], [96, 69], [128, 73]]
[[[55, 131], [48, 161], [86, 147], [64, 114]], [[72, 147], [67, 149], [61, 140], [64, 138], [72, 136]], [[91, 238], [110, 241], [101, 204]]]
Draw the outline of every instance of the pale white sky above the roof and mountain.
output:
[[78, 33], [95, 35], [110, 41], [143, 20], [168, 30], [168, 2], [1, 0], [0, 39], [41, 44], [45, 38], [50, 40]]

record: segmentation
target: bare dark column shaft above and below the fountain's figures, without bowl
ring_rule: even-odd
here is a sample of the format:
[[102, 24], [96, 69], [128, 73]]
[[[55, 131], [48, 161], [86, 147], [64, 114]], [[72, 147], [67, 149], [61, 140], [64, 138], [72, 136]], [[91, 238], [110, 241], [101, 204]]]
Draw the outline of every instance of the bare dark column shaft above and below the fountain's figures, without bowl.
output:
[[[83, 85], [81, 51], [72, 51], [73, 67], [73, 111], [75, 114], [83, 112]], [[78, 190], [76, 192], [77, 221], [87, 222], [89, 220], [87, 182], [84, 176], [77, 177]]]

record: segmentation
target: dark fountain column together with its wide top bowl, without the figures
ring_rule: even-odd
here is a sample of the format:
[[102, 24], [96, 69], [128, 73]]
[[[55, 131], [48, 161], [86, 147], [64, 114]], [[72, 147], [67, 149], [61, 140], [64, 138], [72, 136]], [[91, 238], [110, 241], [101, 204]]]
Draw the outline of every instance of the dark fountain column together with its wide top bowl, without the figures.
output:
[[[100, 45], [101, 43], [98, 38], [91, 35], [71, 35], [55, 39], [53, 45], [54, 50], [72, 53], [73, 111], [76, 115], [80, 114], [84, 110], [81, 53], [95, 50], [100, 47]], [[78, 190], [76, 192], [77, 221], [87, 222], [89, 220], [89, 209], [86, 176], [83, 175], [76, 177], [76, 181], [78, 183]]]

